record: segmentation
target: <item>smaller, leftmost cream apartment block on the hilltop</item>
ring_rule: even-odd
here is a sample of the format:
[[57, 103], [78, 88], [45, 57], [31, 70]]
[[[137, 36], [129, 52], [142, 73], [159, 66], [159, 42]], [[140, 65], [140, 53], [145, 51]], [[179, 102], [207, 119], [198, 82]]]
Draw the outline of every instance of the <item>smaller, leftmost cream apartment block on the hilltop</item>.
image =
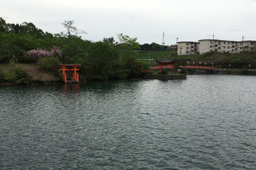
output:
[[178, 42], [178, 55], [199, 54], [199, 43], [193, 41]]

